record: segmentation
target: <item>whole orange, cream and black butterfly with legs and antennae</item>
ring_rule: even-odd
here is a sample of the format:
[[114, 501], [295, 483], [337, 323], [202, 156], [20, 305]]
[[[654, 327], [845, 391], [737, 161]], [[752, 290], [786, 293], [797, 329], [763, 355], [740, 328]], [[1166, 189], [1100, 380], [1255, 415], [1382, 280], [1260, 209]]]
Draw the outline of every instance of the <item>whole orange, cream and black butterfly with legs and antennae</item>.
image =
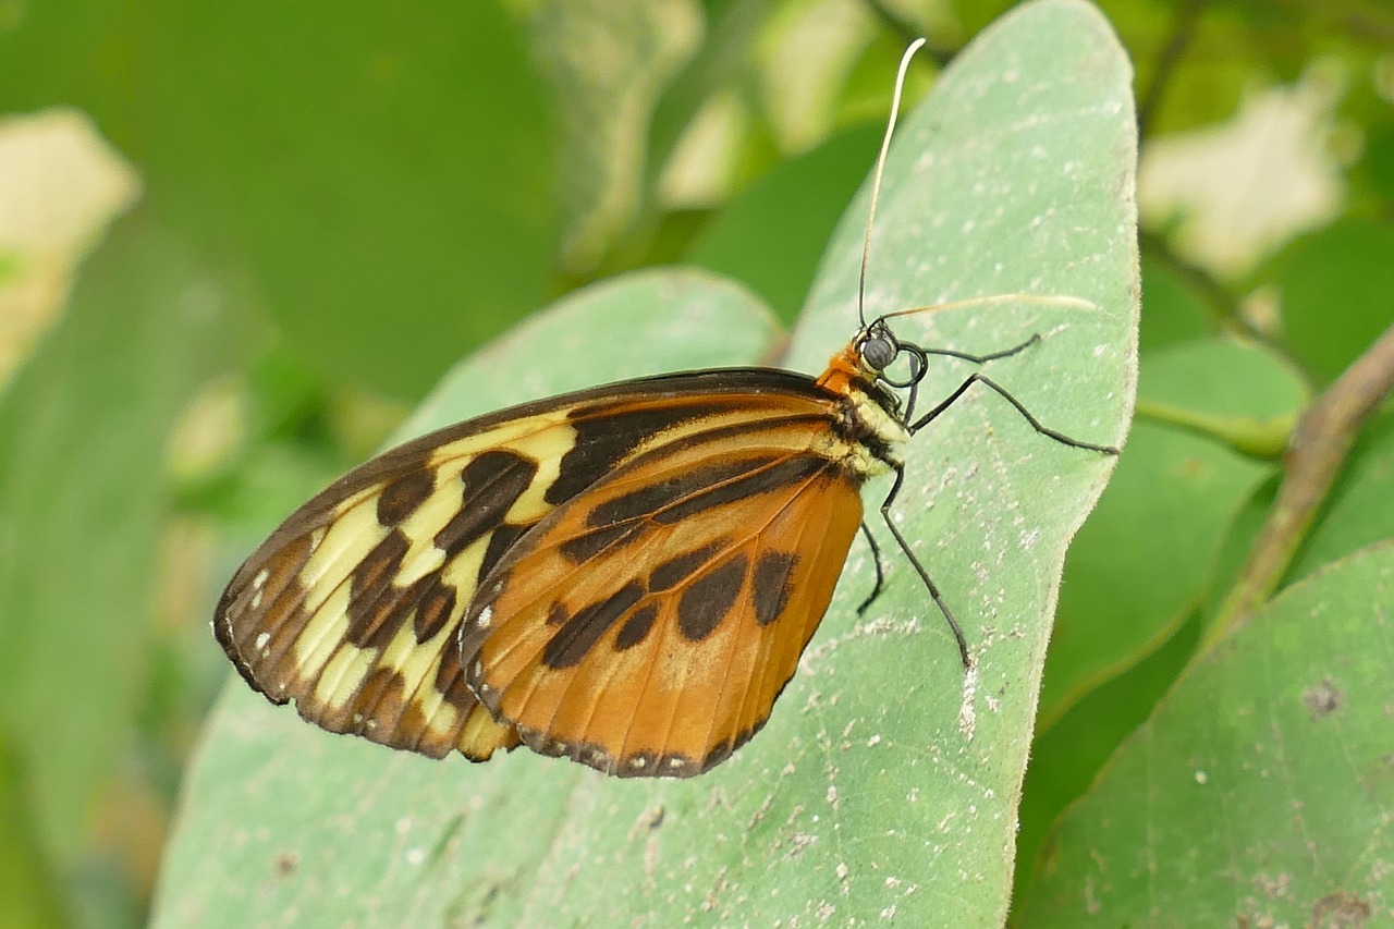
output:
[[[863, 317], [817, 378], [625, 381], [388, 451], [252, 552], [217, 604], [217, 640], [252, 689], [333, 732], [434, 757], [527, 745], [620, 777], [689, 777], [769, 717], [859, 527], [875, 552], [860, 490], [888, 473], [885, 526], [967, 668], [963, 630], [889, 518], [899, 449], [973, 385], [1046, 437], [1115, 449], [1047, 428], [981, 372], [916, 417], [930, 356], [981, 364], [1037, 342], [923, 349], [889, 325], [919, 311]], [[875, 565], [863, 608], [882, 587], [878, 552]]]

